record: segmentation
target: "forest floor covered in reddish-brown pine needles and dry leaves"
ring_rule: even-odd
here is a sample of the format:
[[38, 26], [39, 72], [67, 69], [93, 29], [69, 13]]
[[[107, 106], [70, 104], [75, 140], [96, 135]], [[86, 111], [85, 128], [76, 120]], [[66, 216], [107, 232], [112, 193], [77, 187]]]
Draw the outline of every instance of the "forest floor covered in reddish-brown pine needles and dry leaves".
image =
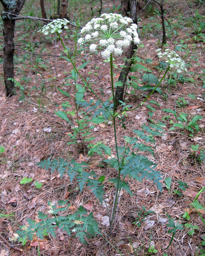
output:
[[[112, 8], [111, 4], [107, 4], [107, 8], [109, 7]], [[199, 4], [192, 4], [187, 7], [185, 3], [178, 4], [178, 1], [171, 1], [171, 3], [166, 3], [165, 8], [169, 10], [169, 14], [166, 15], [169, 16], [169, 20], [172, 20], [171, 25], [173, 26], [177, 22], [181, 22], [177, 20], [179, 13], [183, 13], [184, 19], [193, 16], [196, 9], [198, 13], [204, 15], [204, 5], [199, 6]], [[154, 75], [158, 76], [156, 49], [159, 48], [159, 40], [154, 35], [157, 33], [148, 32], [142, 36], [143, 30], [146, 33], [146, 29], [150, 26], [149, 24], [152, 21], [150, 18], [152, 18], [152, 15], [144, 12], [138, 23], [140, 28], [139, 37], [141, 33], [140, 40], [144, 47], [139, 47], [136, 55], [140, 58], [140, 64], [145, 67], [147, 67], [147, 64], [144, 61], [148, 58], [152, 59], [153, 62], [148, 64], [148, 68], [152, 70]], [[155, 19], [160, 23], [159, 15], [155, 15]], [[20, 28], [16, 29], [16, 39], [19, 39], [23, 25]], [[94, 170], [99, 176], [105, 175], [104, 182], [106, 185], [104, 189], [109, 209], [112, 208], [115, 188], [108, 180], [116, 177], [116, 171], [106, 165], [102, 166], [102, 157], [94, 155], [89, 159], [87, 144], [84, 148], [80, 148], [77, 144], [67, 144], [70, 141], [68, 134], [72, 132], [71, 125], [54, 113], [54, 111], [63, 110], [61, 104], [65, 101], [69, 101], [69, 104], [72, 105], [70, 109], [75, 111], [74, 101], [71, 98], [68, 99], [56, 89], [61, 88], [72, 97], [74, 95], [74, 87], [66, 85], [68, 82], [72, 84], [70, 79], [72, 65], [63, 58], [57, 58], [57, 56], [63, 54], [60, 41], [56, 41], [56, 44], [54, 39], [50, 42], [45, 41], [46, 44], [43, 46], [45, 50], [42, 53], [50, 54], [50, 56], [41, 55], [41, 57], [38, 57], [38, 55], [32, 55], [31, 58], [30, 54], [16, 51], [19, 63], [16, 59], [14, 76], [17, 82], [25, 86], [24, 100], [21, 99], [22, 94], [19, 87], [17, 87], [17, 95], [11, 98], [5, 97], [3, 71], [1, 71], [0, 146], [4, 146], [5, 151], [0, 155], [0, 161], [5, 163], [0, 162], [0, 214], [2, 214], [0, 215], [0, 234], [7, 241], [7, 243], [1, 241], [1, 256], [38, 255], [38, 245], [40, 245], [40, 255], [117, 256], [120, 253], [122, 255], [148, 255], [149, 244], [154, 245], [157, 250], [156, 255], [163, 255], [163, 249], [169, 245], [172, 236], [168, 233], [169, 228], [166, 226], [169, 220], [166, 214], [175, 222], [179, 220], [179, 223], [182, 224], [191, 223], [196, 225], [198, 229], [195, 229], [193, 235], [188, 234], [188, 228], [178, 230], [171, 246], [165, 253], [172, 256], [188, 256], [200, 255], [200, 250], [204, 250], [201, 242], [203, 241], [205, 227], [199, 214], [196, 212], [190, 213], [189, 221], [182, 216], [187, 208], [191, 208], [189, 204], [193, 202], [200, 189], [205, 186], [205, 164], [199, 160], [199, 155], [205, 150], [205, 89], [202, 88], [205, 71], [205, 41], [194, 38], [195, 35], [191, 33], [188, 37], [187, 34], [191, 28], [187, 26], [181, 27], [181, 29], [179, 31], [180, 36], [177, 36], [177, 38], [175, 38], [172, 31], [169, 31], [171, 36], [168, 37], [167, 43], [169, 46], [166, 48], [174, 50], [176, 46], [181, 46], [178, 54], [189, 64], [187, 67], [188, 73], [184, 75], [184, 78], [192, 78], [193, 82], [190, 79], [184, 80], [184, 83], [176, 80], [174, 81], [175, 84], [169, 86], [167, 81], [163, 81], [160, 85], [162, 94], [155, 92], [150, 96], [148, 101], [152, 100], [152, 102], [159, 103], [157, 105], [150, 103], [152, 108], [155, 108], [151, 119], [155, 123], [158, 123], [158, 121], [165, 123], [166, 127], [164, 127], [163, 136], [155, 136], [154, 138], [156, 140], [155, 157], [141, 152], [148, 156], [157, 165], [156, 169], [161, 172], [163, 193], [160, 193], [156, 185], [149, 180], [143, 180], [140, 183], [131, 178], [126, 178], [133, 196], [130, 196], [124, 190], [121, 191], [117, 221], [113, 228], [113, 237], [110, 243], [104, 237], [96, 236], [86, 239], [87, 245], [85, 245], [79, 242], [75, 234], [68, 236], [60, 229], [57, 230], [55, 238], [46, 236], [43, 241], [36, 238], [36, 240], [28, 241], [25, 247], [21, 243], [10, 241], [19, 226], [27, 223], [27, 218], [37, 220], [38, 211], [48, 212], [49, 201], [56, 204], [58, 200], [63, 199], [67, 199], [71, 205], [70, 212], [75, 212], [79, 205], [84, 206], [88, 212], [93, 212], [100, 230], [109, 234], [109, 227], [106, 221], [103, 222], [103, 217], [108, 215], [106, 207], [99, 203], [91, 191], [86, 188], [80, 192], [75, 180], [71, 183], [68, 177], [63, 176], [61, 178], [56, 171], [51, 172], [50, 169], [40, 168], [36, 165], [40, 161], [60, 157], [68, 159], [70, 156], [78, 162], [89, 161], [92, 164], [90, 166], [91, 170]], [[26, 37], [28, 31], [23, 32], [23, 35]], [[161, 38], [160, 30], [157, 35]], [[50, 38], [54, 37], [51, 36]], [[42, 35], [32, 34], [30, 40], [32, 43], [37, 42], [35, 53], [39, 54], [44, 41]], [[65, 43], [69, 47], [73, 47], [71, 39], [65, 39]], [[37, 58], [41, 58], [41, 61]], [[82, 51], [76, 60], [77, 66], [82, 64], [82, 60], [91, 60], [86, 69], [82, 71], [82, 75], [85, 78], [91, 77], [89, 81], [93, 83], [92, 86], [97, 95], [103, 98], [104, 101], [109, 100], [111, 97], [110, 64], [103, 62], [100, 52], [96, 56], [95, 54], [90, 55], [88, 51], [86, 54]], [[46, 63], [49, 63], [49, 65]], [[116, 64], [117, 68], [114, 69], [115, 81], [118, 80], [120, 65], [124, 62], [121, 58], [116, 58]], [[141, 70], [132, 75], [139, 76], [141, 79]], [[23, 80], [24, 77], [30, 77], [31, 79], [26, 83], [26, 80]], [[78, 80], [78, 83], [81, 83], [80, 80]], [[141, 82], [138, 85], [142, 86], [146, 83]], [[137, 106], [145, 99], [142, 94], [138, 95], [138, 93], [139, 91], [136, 95], [131, 94], [131, 88], [128, 89], [125, 101], [132, 104], [133, 107]], [[143, 93], [146, 93], [146, 91]], [[191, 96], [190, 98], [189, 94], [195, 97]], [[184, 102], [179, 99], [182, 97]], [[92, 98], [95, 99], [95, 96], [86, 91], [84, 92], [84, 98], [89, 101]], [[202, 119], [198, 121], [199, 131], [194, 130], [193, 136], [190, 137], [186, 129], [169, 130], [172, 126], [170, 120], [173, 119], [174, 122], [176, 120], [174, 120], [172, 114], [162, 111], [165, 108], [176, 110], [177, 114], [186, 113], [188, 122], [192, 120], [193, 116], [202, 116]], [[148, 125], [150, 123], [148, 112], [150, 112], [150, 109], [146, 107], [146, 104], [133, 112], [127, 112], [126, 130], [119, 124], [120, 121], [117, 121], [118, 145], [124, 145], [124, 136], [133, 137], [133, 129], [141, 129], [143, 124]], [[163, 118], [168, 115], [171, 115], [171, 117]], [[76, 115], [68, 116], [77, 125]], [[114, 154], [115, 140], [112, 123], [94, 125], [95, 128], [90, 135], [95, 137], [94, 142], [106, 142], [106, 145], [112, 149]], [[199, 147], [194, 151], [192, 145], [199, 145]], [[153, 144], [149, 146], [153, 146]], [[104, 157], [107, 156], [104, 155]], [[23, 177], [32, 178], [33, 181], [21, 185], [19, 181]], [[170, 190], [166, 188], [164, 183], [164, 179], [167, 177], [171, 177]], [[42, 187], [36, 188], [34, 181], [43, 183]], [[174, 192], [174, 190], [178, 190], [178, 181], [187, 184], [185, 191], [179, 189], [181, 196]], [[200, 195], [198, 201], [204, 205], [204, 193]], [[152, 210], [153, 213], [146, 213], [145, 216], [143, 206], [146, 212]], [[142, 211], [140, 216], [137, 215], [138, 211]], [[201, 214], [203, 213], [205, 212], [201, 212]], [[133, 224], [137, 217], [139, 217], [141, 223], [140, 227]], [[146, 221], [142, 220], [144, 218]], [[8, 244], [15, 245], [23, 251], [9, 250]], [[133, 252], [133, 248], [136, 250], [136, 254]]]

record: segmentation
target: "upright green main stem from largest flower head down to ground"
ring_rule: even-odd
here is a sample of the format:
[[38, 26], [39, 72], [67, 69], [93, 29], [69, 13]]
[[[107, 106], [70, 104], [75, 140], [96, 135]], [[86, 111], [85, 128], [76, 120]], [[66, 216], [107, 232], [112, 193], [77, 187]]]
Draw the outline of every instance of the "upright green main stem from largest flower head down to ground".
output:
[[115, 217], [115, 211], [118, 204], [118, 190], [119, 190], [119, 180], [120, 180], [120, 162], [119, 162], [119, 154], [118, 154], [118, 143], [117, 143], [117, 134], [116, 134], [116, 115], [115, 115], [115, 94], [114, 94], [114, 85], [113, 85], [113, 64], [112, 64], [112, 53], [110, 54], [110, 75], [111, 75], [111, 86], [112, 86], [112, 96], [113, 96], [113, 127], [114, 127], [114, 135], [115, 135], [115, 147], [117, 151], [117, 159], [118, 159], [118, 182], [114, 199], [114, 207], [112, 210], [112, 215], [110, 219], [110, 236], [112, 236], [112, 226]]

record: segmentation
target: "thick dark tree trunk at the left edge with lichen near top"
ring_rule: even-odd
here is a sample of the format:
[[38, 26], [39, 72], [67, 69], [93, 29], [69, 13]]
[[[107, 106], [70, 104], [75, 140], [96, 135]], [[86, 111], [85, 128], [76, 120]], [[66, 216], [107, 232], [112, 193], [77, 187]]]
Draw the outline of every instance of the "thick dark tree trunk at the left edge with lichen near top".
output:
[[2, 12], [3, 20], [3, 36], [4, 36], [4, 45], [3, 45], [3, 69], [4, 69], [4, 83], [6, 89], [6, 96], [12, 96], [16, 94], [14, 80], [8, 80], [8, 78], [14, 79], [13, 76], [13, 53], [14, 53], [14, 26], [15, 26], [15, 16], [12, 14], [18, 15], [21, 8], [23, 7], [25, 0], [0, 0], [4, 7]]

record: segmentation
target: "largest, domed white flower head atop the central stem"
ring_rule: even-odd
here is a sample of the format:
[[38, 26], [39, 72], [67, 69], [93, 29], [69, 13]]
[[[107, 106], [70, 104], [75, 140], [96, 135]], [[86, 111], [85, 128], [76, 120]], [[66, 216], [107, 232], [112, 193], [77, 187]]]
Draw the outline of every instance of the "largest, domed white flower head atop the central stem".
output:
[[80, 33], [86, 35], [78, 39], [78, 44], [99, 40], [99, 44], [90, 44], [90, 52], [95, 52], [99, 45], [105, 47], [104, 51], [101, 52], [104, 59], [109, 58], [111, 53], [121, 56], [122, 48], [127, 48], [132, 41], [134, 44], [140, 44], [137, 25], [132, 23], [127, 28], [128, 23], [131, 22], [133, 22], [132, 19], [120, 14], [104, 13], [100, 18], [93, 18], [81, 29]]

